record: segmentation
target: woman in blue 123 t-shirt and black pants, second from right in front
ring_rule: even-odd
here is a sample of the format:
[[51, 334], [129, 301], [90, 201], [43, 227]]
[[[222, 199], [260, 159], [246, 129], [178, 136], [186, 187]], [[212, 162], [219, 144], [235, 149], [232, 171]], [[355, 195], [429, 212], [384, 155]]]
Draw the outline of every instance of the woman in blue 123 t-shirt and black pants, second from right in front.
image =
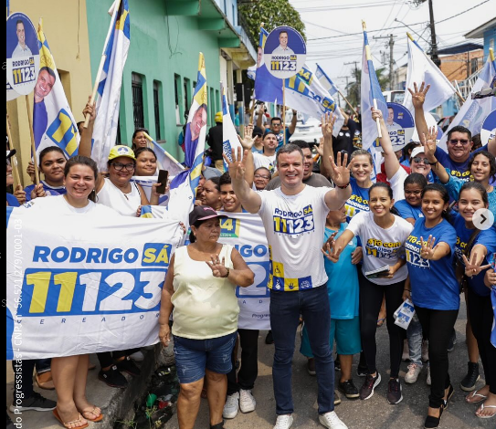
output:
[[457, 234], [449, 225], [449, 195], [438, 184], [422, 191], [422, 213], [406, 240], [412, 300], [428, 340], [431, 387], [426, 428], [438, 427], [453, 394], [448, 343], [459, 314], [459, 282], [453, 269]]

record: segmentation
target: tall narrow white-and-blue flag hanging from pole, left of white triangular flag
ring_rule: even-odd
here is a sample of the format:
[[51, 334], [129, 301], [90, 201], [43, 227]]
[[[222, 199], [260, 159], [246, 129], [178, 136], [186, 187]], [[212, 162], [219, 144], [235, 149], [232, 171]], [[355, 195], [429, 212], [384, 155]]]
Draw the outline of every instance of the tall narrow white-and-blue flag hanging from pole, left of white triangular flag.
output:
[[377, 124], [372, 119], [370, 109], [374, 107], [383, 112], [383, 118], [387, 118], [387, 103], [375, 74], [374, 63], [370, 54], [367, 32], [364, 29], [364, 57], [362, 61], [362, 148], [366, 151], [379, 137]]

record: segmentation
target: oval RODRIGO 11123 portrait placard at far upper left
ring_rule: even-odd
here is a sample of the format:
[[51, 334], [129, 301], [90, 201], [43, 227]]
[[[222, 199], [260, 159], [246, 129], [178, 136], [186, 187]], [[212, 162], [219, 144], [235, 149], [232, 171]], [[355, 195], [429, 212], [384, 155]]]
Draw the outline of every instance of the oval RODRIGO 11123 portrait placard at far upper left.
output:
[[[27, 95], [37, 83], [39, 49], [37, 32], [31, 20], [24, 14], [16, 13], [7, 18], [6, 30], [6, 78], [10, 89], [17, 94]], [[15, 94], [10, 93], [10, 97]], [[7, 85], [7, 100], [9, 86]], [[12, 98], [11, 98], [12, 99]]]

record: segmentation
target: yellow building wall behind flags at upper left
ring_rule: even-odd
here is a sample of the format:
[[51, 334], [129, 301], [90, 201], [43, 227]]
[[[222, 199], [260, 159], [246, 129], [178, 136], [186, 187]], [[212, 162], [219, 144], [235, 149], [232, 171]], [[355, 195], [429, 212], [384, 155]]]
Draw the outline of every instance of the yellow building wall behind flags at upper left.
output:
[[[83, 120], [82, 110], [91, 94], [90, 46], [86, 16], [86, 1], [78, 0], [11, 0], [10, 13], [22, 12], [37, 28], [43, 18], [43, 30], [52, 52], [70, 109], [76, 121]], [[33, 93], [27, 96], [33, 111]], [[31, 184], [26, 166], [31, 158], [26, 97], [6, 103], [11, 124], [12, 146], [17, 151], [17, 162], [23, 186]], [[17, 183], [15, 183], [17, 184]]]

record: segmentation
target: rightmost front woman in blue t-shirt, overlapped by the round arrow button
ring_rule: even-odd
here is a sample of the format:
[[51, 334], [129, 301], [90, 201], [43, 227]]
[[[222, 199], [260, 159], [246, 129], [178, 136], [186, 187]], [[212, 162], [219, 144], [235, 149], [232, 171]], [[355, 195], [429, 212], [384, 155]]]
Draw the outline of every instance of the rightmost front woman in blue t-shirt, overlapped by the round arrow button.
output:
[[[458, 237], [457, 261], [467, 276], [468, 288], [465, 288], [467, 309], [486, 379], [486, 385], [471, 392], [466, 401], [480, 403], [485, 400], [476, 412], [480, 418], [496, 415], [496, 349], [491, 344], [494, 316], [491, 289], [484, 285], [485, 272], [491, 267], [487, 265], [486, 256], [492, 256], [496, 252], [496, 228], [491, 226], [490, 229], [479, 230], [473, 225], [474, 213], [488, 206], [488, 194], [483, 186], [480, 183], [465, 183], [459, 192], [459, 214], [454, 221]], [[469, 254], [470, 259], [467, 257]]]

